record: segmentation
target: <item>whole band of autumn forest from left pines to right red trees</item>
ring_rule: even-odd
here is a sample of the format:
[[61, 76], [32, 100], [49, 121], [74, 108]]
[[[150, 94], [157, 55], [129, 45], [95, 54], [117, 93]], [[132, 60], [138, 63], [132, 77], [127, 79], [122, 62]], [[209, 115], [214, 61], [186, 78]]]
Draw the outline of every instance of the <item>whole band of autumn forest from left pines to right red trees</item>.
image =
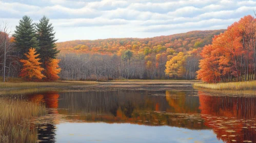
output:
[[4, 81], [199, 79], [208, 83], [256, 79], [256, 24], [251, 15], [227, 30], [191, 31], [153, 38], [57, 42], [47, 17], [24, 16], [14, 34], [0, 33]]

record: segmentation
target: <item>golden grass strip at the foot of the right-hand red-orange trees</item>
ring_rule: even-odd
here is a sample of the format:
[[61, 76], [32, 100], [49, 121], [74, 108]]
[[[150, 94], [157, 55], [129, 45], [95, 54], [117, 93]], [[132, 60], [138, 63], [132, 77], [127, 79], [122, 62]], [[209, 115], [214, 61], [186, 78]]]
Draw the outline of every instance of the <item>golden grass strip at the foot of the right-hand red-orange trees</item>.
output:
[[193, 86], [215, 90], [256, 90], [256, 81], [228, 83], [194, 83]]

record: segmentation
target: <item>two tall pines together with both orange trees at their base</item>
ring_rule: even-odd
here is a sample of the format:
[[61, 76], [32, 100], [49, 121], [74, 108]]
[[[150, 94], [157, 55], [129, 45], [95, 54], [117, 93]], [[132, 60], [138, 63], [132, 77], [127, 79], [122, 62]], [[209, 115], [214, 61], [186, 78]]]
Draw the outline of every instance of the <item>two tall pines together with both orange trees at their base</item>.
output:
[[23, 67], [20, 77], [27, 81], [55, 81], [61, 68], [56, 49], [52, 24], [43, 16], [39, 23], [32, 23], [29, 16], [24, 16], [16, 26], [13, 37]]

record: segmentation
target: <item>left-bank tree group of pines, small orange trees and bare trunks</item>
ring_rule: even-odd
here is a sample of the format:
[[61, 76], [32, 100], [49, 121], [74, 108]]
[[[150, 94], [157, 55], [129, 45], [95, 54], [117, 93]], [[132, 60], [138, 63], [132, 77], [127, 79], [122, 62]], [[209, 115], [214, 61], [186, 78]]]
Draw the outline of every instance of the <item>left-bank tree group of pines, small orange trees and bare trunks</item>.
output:
[[[3, 81], [9, 77], [25, 80], [57, 80], [60, 68], [56, 59], [56, 39], [49, 18], [43, 16], [39, 23], [25, 15], [19, 20], [14, 34], [7, 22], [0, 28], [0, 73]], [[3, 58], [2, 58], [3, 57]]]

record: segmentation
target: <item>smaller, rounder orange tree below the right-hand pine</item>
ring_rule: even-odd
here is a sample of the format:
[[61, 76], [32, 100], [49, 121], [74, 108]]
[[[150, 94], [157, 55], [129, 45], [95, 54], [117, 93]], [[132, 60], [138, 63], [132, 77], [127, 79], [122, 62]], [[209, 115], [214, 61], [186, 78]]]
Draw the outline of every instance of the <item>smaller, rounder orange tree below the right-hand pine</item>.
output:
[[45, 76], [47, 80], [56, 81], [60, 78], [58, 77], [58, 74], [61, 72], [61, 68], [58, 66], [59, 62], [59, 59], [50, 59], [46, 62]]

